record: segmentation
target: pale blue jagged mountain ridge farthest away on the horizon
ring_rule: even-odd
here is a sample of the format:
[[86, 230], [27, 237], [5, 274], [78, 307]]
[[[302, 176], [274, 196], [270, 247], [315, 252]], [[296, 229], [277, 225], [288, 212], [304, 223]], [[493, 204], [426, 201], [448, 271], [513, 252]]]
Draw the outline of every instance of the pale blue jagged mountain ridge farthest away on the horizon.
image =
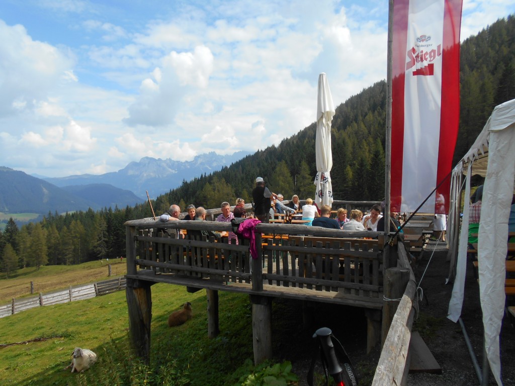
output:
[[59, 187], [87, 184], [110, 184], [120, 189], [132, 191], [146, 199], [146, 191], [155, 198], [179, 187], [183, 181], [191, 181], [204, 173], [211, 173], [229, 166], [251, 154], [238, 151], [231, 155], [218, 155], [215, 152], [197, 155], [193, 161], [174, 161], [143, 157], [140, 162], [131, 162], [125, 168], [105, 174], [80, 174], [77, 176], [44, 178]]

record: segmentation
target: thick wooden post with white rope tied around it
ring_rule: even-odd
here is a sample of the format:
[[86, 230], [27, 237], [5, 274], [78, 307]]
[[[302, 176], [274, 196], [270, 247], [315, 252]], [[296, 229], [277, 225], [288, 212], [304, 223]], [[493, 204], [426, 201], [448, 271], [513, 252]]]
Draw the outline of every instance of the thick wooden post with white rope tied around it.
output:
[[383, 346], [391, 321], [397, 311], [399, 302], [404, 295], [404, 291], [409, 282], [409, 269], [407, 268], [388, 268], [384, 278], [384, 304], [383, 304], [383, 324], [381, 328], [381, 346]]

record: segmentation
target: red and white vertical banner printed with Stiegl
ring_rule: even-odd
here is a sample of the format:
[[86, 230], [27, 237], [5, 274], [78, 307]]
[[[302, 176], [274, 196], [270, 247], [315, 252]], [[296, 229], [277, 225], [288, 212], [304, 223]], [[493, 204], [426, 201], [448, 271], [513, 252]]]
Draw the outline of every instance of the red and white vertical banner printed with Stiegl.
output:
[[461, 6], [461, 0], [393, 2], [394, 212], [414, 212], [443, 180], [419, 212], [443, 214], [449, 209], [449, 174], [459, 124]]

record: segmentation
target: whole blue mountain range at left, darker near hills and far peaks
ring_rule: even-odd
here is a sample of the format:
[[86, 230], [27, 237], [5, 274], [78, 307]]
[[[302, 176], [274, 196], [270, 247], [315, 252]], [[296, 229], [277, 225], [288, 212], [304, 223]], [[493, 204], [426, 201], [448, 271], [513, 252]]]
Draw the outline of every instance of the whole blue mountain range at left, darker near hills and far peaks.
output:
[[147, 200], [147, 190], [152, 197], [159, 196], [183, 181], [219, 170], [248, 154], [241, 151], [222, 156], [210, 152], [188, 162], [144, 157], [116, 172], [62, 178], [37, 178], [0, 167], [0, 212], [46, 215], [134, 206]]

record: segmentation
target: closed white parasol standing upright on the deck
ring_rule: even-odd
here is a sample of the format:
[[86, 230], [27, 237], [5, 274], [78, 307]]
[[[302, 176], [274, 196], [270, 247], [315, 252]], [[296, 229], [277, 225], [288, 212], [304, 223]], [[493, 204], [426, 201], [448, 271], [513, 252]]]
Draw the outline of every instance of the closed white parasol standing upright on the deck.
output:
[[319, 207], [333, 203], [333, 185], [330, 172], [333, 167], [331, 121], [334, 114], [333, 97], [331, 96], [327, 76], [321, 73], [318, 76], [317, 134], [315, 139], [317, 175], [314, 182], [316, 186], [315, 203]]

